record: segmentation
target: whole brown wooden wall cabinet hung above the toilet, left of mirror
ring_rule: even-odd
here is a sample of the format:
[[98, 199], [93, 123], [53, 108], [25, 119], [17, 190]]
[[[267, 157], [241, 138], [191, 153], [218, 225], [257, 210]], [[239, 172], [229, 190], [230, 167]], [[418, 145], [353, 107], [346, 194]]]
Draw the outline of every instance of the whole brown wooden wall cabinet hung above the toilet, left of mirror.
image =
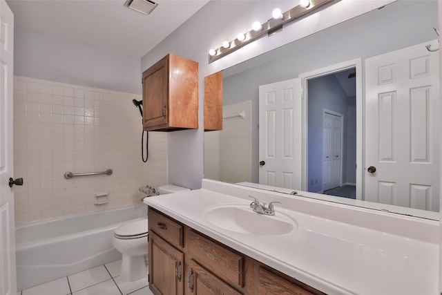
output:
[[144, 131], [198, 129], [198, 62], [166, 55], [142, 84]]

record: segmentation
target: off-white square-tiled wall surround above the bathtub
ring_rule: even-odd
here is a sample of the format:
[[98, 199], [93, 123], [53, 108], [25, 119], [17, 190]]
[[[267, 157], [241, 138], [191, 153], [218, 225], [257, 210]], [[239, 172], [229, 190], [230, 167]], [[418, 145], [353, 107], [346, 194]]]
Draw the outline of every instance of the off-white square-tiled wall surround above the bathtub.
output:
[[[14, 79], [15, 220], [20, 225], [73, 213], [140, 203], [143, 185], [167, 183], [166, 133], [149, 133], [141, 160], [141, 95]], [[113, 169], [113, 175], [66, 180], [64, 173]], [[94, 204], [108, 193], [107, 204]]]

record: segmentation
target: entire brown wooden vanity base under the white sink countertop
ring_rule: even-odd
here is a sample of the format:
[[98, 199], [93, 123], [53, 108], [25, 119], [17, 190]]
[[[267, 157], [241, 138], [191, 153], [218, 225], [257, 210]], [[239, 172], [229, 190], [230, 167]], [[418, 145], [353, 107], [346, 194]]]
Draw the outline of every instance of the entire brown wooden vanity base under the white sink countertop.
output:
[[155, 295], [323, 295], [151, 207], [148, 224], [149, 288]]

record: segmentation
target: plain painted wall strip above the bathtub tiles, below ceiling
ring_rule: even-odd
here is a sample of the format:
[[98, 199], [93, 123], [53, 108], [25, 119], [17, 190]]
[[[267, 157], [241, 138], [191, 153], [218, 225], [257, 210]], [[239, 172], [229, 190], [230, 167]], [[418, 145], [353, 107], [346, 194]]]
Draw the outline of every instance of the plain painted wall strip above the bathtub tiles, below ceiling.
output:
[[14, 75], [141, 94], [140, 59], [15, 28]]

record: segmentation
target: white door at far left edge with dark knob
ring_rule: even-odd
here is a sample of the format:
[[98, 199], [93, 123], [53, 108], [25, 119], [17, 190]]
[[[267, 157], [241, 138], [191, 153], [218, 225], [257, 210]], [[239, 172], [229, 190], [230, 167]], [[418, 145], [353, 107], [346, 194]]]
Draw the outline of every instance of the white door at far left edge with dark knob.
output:
[[12, 53], [14, 16], [0, 0], [0, 295], [17, 294], [12, 154]]

